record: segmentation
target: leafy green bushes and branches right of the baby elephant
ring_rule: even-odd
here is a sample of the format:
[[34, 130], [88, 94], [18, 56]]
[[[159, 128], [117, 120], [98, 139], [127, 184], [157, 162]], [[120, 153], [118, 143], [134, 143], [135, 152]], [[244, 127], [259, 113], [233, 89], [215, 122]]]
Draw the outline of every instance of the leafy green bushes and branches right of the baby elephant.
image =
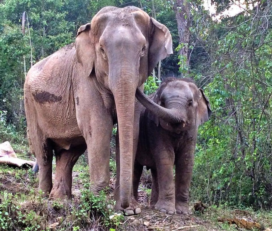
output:
[[272, 30], [264, 26], [266, 12], [272, 12], [271, 4], [220, 23], [201, 6], [193, 14], [193, 36], [205, 44], [208, 59], [202, 57], [191, 74], [205, 85], [213, 111], [199, 128], [195, 199], [271, 208]]

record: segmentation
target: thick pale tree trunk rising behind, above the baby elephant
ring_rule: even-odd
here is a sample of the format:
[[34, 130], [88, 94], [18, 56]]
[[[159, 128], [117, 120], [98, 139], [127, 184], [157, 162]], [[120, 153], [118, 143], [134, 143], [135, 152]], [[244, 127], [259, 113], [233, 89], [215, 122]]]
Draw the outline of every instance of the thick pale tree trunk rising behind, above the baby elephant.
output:
[[191, 18], [190, 18], [190, 3], [188, 0], [175, 0], [175, 13], [177, 19], [177, 29], [179, 32], [179, 44], [181, 49], [179, 55], [181, 56], [181, 67], [188, 69], [188, 49], [190, 42]]

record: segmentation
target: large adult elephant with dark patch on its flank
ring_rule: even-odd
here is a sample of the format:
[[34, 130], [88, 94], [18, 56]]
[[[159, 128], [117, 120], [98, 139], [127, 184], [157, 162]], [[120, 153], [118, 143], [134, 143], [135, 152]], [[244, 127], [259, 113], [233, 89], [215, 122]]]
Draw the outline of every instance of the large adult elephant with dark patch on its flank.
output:
[[131, 6], [105, 7], [79, 28], [75, 44], [29, 70], [25, 113], [40, 170], [39, 189], [49, 197], [71, 197], [72, 169], [86, 148], [91, 190], [107, 187], [110, 137], [118, 119], [120, 203], [129, 214], [140, 212], [130, 206], [133, 140], [135, 147], [140, 116], [134, 112], [135, 92], [171, 53], [169, 30], [147, 13]]

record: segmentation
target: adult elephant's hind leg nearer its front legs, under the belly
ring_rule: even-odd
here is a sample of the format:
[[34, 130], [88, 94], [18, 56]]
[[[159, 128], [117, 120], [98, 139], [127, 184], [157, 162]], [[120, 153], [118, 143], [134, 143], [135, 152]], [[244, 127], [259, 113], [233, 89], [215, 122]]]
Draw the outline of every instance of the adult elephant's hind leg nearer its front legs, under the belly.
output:
[[76, 146], [69, 150], [62, 149], [56, 156], [56, 173], [50, 198], [72, 197], [72, 171], [81, 154], [86, 150], [86, 145]]

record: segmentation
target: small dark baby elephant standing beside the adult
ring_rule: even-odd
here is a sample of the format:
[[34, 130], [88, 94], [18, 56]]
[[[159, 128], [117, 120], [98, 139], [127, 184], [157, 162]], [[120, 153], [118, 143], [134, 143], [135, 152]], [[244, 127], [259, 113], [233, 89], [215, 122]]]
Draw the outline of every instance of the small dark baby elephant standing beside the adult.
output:
[[168, 214], [188, 214], [197, 131], [210, 117], [210, 102], [191, 79], [175, 78], [167, 78], [151, 100], [169, 111], [178, 110], [181, 122], [166, 122], [139, 106], [143, 108], [134, 164], [134, 197], [138, 199], [145, 165], [152, 175], [151, 208]]

